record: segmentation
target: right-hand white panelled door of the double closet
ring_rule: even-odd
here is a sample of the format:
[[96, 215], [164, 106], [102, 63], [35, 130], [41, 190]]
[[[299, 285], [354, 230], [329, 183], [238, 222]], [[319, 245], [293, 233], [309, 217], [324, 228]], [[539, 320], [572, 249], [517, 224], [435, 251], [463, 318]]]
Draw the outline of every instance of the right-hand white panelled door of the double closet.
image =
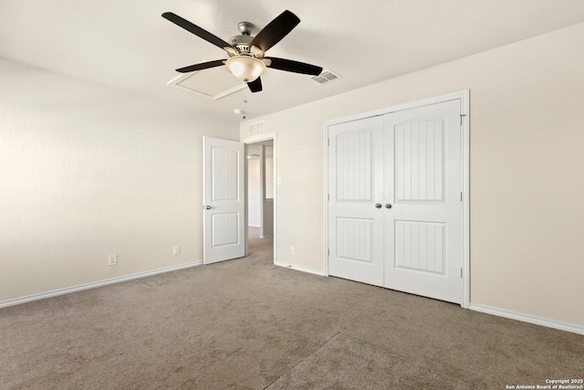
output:
[[460, 101], [387, 114], [384, 286], [462, 300]]

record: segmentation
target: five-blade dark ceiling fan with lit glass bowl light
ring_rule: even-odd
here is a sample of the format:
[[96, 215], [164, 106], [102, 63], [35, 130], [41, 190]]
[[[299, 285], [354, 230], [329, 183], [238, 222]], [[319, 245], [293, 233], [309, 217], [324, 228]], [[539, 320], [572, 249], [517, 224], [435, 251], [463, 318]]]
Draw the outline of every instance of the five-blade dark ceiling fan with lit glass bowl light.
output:
[[203, 28], [193, 25], [183, 17], [165, 12], [162, 17], [170, 20], [177, 26], [201, 37], [216, 47], [223, 48], [229, 58], [216, 59], [214, 61], [203, 62], [176, 69], [181, 73], [193, 72], [215, 67], [225, 66], [233, 75], [247, 83], [249, 90], [259, 92], [262, 90], [262, 80], [260, 75], [266, 68], [285, 70], [287, 72], [302, 73], [306, 75], [318, 76], [322, 68], [304, 62], [293, 61], [285, 58], [265, 57], [266, 51], [276, 45], [283, 37], [286, 37], [294, 27], [300, 23], [298, 16], [290, 11], [284, 11], [274, 20], [267, 24], [255, 37], [251, 36], [254, 25], [249, 22], [241, 22], [237, 26], [241, 35], [229, 38], [225, 42], [219, 37], [215, 37]]

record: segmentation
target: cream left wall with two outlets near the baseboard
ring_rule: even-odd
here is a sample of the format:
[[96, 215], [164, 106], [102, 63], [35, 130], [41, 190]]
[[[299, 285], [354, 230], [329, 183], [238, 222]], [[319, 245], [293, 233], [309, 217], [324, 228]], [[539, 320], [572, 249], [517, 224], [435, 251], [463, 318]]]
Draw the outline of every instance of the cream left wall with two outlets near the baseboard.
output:
[[0, 302], [203, 258], [202, 135], [233, 125], [1, 58], [0, 121]]

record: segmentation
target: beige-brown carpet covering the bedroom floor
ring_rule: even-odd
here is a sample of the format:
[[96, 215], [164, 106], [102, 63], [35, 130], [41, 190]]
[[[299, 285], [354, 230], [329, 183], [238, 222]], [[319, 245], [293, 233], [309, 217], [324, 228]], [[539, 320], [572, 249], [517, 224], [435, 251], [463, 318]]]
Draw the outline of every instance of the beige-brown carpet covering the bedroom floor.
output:
[[0, 310], [0, 389], [504, 389], [584, 336], [249, 258]]

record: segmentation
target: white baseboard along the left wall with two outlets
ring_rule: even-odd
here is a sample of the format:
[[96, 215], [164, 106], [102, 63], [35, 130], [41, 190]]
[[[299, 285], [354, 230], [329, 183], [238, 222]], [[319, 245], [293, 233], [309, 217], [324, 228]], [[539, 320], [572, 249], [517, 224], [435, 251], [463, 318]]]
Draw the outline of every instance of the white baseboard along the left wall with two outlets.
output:
[[166, 267], [163, 269], [153, 269], [151, 271], [138, 272], [138, 273], [131, 274], [131, 275], [121, 276], [119, 278], [93, 281], [91, 283], [79, 284], [77, 286], [66, 287], [63, 289], [50, 290], [50, 291], [46, 291], [46, 292], [40, 292], [40, 293], [36, 293], [36, 294], [26, 295], [24, 297], [12, 298], [10, 300], [0, 300], [0, 309], [8, 307], [8, 306], [19, 305], [21, 303], [32, 302], [33, 300], [44, 300], [46, 298], [57, 297], [58, 295], [65, 295], [65, 294], [69, 294], [71, 292], [95, 289], [96, 287], [107, 286], [109, 284], [120, 283], [122, 281], [146, 278], [146, 277], [158, 275], [158, 274], [161, 274], [164, 272], [171, 272], [171, 271], [175, 271], [175, 270], [179, 270], [179, 269], [188, 269], [188, 268], [196, 267], [196, 266], [200, 266], [200, 265], [203, 265], [203, 260], [193, 261], [193, 262], [181, 264], [178, 266]]

